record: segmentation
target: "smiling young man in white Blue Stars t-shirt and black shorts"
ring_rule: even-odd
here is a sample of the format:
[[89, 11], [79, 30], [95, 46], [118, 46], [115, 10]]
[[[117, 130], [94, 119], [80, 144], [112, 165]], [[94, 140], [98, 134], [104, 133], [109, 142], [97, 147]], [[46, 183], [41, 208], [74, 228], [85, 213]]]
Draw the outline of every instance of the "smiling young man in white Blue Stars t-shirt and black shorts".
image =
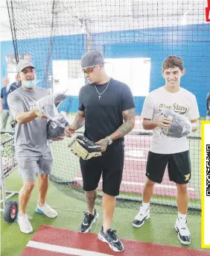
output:
[[[165, 86], [153, 90], [144, 101], [141, 116], [145, 130], [153, 130], [150, 152], [147, 157], [146, 176], [143, 200], [139, 213], [133, 219], [136, 228], [144, 225], [150, 217], [150, 199], [153, 196], [155, 183], [161, 183], [165, 168], [177, 187], [178, 216], [174, 228], [182, 244], [191, 243], [191, 234], [187, 227], [186, 214], [188, 210], [187, 184], [191, 178], [191, 162], [188, 141], [186, 137], [168, 137], [162, 131], [167, 131], [172, 125], [171, 119], [162, 115], [165, 109], [173, 110], [186, 119], [191, 131], [197, 131], [199, 110], [194, 94], [180, 87], [180, 79], [185, 74], [183, 60], [177, 56], [169, 56], [162, 63], [162, 76]], [[190, 122], [188, 121], [190, 120]], [[166, 133], [167, 134], [167, 133]]]

